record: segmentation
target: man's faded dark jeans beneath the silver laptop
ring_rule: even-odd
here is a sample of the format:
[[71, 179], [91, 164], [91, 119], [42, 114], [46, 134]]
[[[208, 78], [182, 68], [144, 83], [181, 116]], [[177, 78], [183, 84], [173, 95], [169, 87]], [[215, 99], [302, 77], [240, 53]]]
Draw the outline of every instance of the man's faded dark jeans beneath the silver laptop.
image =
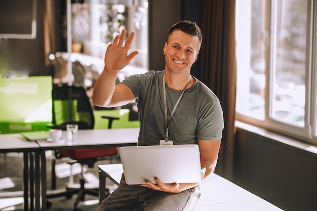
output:
[[167, 193], [139, 185], [127, 185], [123, 174], [118, 188], [98, 206], [96, 211], [193, 210], [200, 195], [199, 185], [180, 193]]

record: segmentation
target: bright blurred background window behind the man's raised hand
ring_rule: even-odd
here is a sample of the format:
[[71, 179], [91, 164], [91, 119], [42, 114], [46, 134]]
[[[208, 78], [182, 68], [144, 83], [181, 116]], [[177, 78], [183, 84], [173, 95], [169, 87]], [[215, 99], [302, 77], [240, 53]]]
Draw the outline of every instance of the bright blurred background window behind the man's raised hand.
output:
[[[72, 15], [72, 44], [83, 45], [80, 53], [102, 59], [103, 65], [107, 46], [122, 29], [127, 29], [127, 38], [132, 31], [135, 32], [130, 51], [139, 52], [130, 65], [148, 69], [148, 0], [85, 0], [83, 4], [73, 3], [69, 7]], [[67, 37], [66, 26], [65, 15], [64, 37]]]

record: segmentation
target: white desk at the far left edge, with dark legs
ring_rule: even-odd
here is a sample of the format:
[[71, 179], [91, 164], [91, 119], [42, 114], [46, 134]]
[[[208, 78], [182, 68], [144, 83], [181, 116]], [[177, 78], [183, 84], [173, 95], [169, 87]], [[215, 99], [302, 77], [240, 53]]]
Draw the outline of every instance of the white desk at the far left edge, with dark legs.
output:
[[[39, 146], [36, 142], [26, 141], [20, 134], [0, 135], [0, 153], [23, 152], [23, 207], [24, 210], [39, 210]], [[35, 168], [34, 168], [35, 165]], [[34, 190], [35, 187], [35, 190]]]

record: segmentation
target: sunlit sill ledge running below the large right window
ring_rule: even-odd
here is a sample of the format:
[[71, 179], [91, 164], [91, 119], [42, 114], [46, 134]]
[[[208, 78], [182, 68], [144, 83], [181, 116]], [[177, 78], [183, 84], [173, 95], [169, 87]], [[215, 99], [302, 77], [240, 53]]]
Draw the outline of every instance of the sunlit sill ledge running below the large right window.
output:
[[257, 126], [247, 124], [241, 121], [235, 121], [235, 127], [244, 131], [263, 136], [273, 143], [280, 144], [293, 150], [299, 150], [300, 152], [308, 152], [311, 156], [317, 157], [317, 146], [292, 139], [281, 134], [277, 134]]

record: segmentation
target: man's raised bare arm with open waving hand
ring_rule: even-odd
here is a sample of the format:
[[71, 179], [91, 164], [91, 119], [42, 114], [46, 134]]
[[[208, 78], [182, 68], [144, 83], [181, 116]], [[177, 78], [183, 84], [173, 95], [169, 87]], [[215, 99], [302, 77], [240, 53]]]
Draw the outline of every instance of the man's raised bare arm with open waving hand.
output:
[[123, 29], [121, 35], [116, 35], [113, 43], [109, 44], [106, 50], [104, 58], [105, 66], [96, 81], [92, 96], [93, 103], [97, 106], [121, 106], [134, 99], [133, 93], [127, 86], [115, 86], [118, 72], [127, 66], [138, 54], [137, 51], [134, 51], [128, 55], [128, 50], [134, 38], [134, 32], [130, 34], [126, 44], [124, 44], [126, 34], [127, 31]]

